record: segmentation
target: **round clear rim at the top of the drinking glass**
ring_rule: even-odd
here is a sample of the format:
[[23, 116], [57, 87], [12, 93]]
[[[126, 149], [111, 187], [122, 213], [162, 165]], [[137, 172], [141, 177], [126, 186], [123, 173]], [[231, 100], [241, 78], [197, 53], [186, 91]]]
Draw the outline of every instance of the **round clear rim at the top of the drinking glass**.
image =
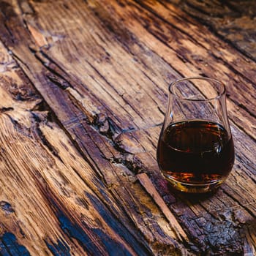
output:
[[[209, 98], [209, 99], [189, 99], [189, 98], [186, 98], [186, 97], [180, 97], [174, 91], [171, 90], [173, 88], [173, 86], [176, 85], [177, 83], [187, 81], [187, 80], [208, 80], [208, 81], [212, 81], [214, 83], [218, 83], [222, 87], [221, 87], [221, 90], [217, 91], [217, 96], [216, 97], [212, 97], [212, 98]], [[222, 83], [222, 81], [214, 79], [214, 78], [195, 76], [195, 77], [180, 78], [178, 80], [173, 81], [172, 83], [170, 83], [168, 90], [169, 90], [170, 94], [172, 94], [177, 99], [186, 100], [186, 101], [189, 101], [189, 102], [209, 102], [209, 101], [214, 100], [214, 99], [220, 99], [223, 95], [225, 95], [226, 86], [225, 86], [224, 83]]]

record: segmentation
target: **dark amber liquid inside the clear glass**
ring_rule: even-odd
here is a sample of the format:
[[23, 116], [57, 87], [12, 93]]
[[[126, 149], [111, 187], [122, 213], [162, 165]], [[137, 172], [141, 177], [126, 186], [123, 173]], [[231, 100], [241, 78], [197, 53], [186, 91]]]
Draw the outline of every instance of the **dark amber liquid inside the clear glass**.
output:
[[157, 160], [168, 178], [185, 184], [211, 184], [230, 173], [233, 140], [222, 125], [211, 121], [173, 123], [159, 138]]

